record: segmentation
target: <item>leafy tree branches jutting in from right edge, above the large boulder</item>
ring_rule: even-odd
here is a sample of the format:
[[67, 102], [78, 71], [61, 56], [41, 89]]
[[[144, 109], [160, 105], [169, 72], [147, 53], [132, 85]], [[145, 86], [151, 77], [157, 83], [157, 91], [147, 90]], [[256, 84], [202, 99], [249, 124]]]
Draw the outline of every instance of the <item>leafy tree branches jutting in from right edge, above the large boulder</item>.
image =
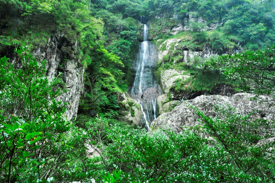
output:
[[275, 44], [266, 50], [247, 51], [234, 55], [223, 55], [211, 60], [206, 66], [212, 66], [228, 78], [240, 78], [251, 84], [258, 94], [275, 97]]

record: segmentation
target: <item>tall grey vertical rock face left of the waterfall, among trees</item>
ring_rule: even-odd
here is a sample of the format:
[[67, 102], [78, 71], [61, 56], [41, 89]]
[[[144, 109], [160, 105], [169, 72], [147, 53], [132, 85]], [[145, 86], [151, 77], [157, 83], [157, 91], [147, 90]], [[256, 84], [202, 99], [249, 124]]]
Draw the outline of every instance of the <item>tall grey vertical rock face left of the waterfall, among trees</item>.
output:
[[[32, 51], [38, 62], [46, 60], [46, 75], [49, 80], [59, 77], [64, 82], [63, 87], [67, 92], [59, 96], [57, 100], [66, 103], [65, 115], [68, 120], [76, 118], [79, 98], [84, 88], [84, 69], [81, 66], [81, 60], [77, 58], [78, 46], [76, 39], [56, 34], [49, 38], [45, 46], [39, 46]], [[15, 66], [20, 67], [21, 63], [16, 54], [10, 54], [9, 58]]]

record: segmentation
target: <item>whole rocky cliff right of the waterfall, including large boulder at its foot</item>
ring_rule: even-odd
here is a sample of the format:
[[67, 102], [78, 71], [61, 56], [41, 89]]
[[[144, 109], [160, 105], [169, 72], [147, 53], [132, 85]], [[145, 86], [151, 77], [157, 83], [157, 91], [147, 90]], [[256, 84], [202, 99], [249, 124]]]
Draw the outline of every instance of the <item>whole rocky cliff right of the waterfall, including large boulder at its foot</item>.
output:
[[[171, 19], [177, 19], [177, 17]], [[152, 24], [154, 23], [152, 22]], [[171, 21], [170, 24], [173, 22]], [[215, 59], [218, 54], [242, 52], [239, 45], [224, 49], [224, 52], [221, 53], [212, 48], [209, 40], [195, 44], [196, 34], [208, 31], [211, 35], [220, 26], [222, 25], [218, 22], [207, 24], [201, 17], [193, 16], [191, 12], [178, 25], [173, 25], [165, 31], [165, 34], [170, 36], [155, 41], [158, 48], [158, 65], [160, 66], [157, 71], [158, 79], [166, 95], [160, 96], [157, 100], [161, 115], [153, 121], [151, 130], [169, 128], [180, 132], [185, 127], [197, 125], [198, 116], [190, 105], [212, 117], [217, 114], [213, 107], [220, 105], [236, 108], [239, 114], [245, 115], [253, 112], [253, 118], [275, 119], [274, 99], [260, 96], [257, 101], [251, 100], [255, 97], [253, 94], [235, 94], [235, 85], [232, 84], [234, 81], [228, 82], [226, 79], [220, 79], [221, 75], [218, 75], [218, 72], [207, 71], [205, 67], [201, 67], [201, 64], [209, 57]], [[199, 30], [194, 30], [195, 27]], [[237, 43], [235, 44], [237, 45]], [[215, 81], [213, 82], [214, 87], [210, 88], [207, 83], [212, 84], [210, 82], [212, 80]], [[192, 82], [195, 83], [195, 81], [202, 84], [192, 85]], [[240, 85], [242, 84], [240, 83]], [[205, 87], [209, 90], [205, 90]]]

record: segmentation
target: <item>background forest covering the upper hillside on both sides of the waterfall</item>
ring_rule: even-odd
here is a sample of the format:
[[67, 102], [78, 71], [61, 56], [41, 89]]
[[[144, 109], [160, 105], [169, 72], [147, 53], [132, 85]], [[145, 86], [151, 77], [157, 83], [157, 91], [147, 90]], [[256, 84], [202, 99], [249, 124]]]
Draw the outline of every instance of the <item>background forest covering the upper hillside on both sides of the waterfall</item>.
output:
[[[111, 118], [120, 115], [116, 93], [131, 85], [130, 68], [142, 40], [141, 15], [149, 20], [153, 41], [185, 38], [178, 47], [189, 50], [210, 45], [222, 54], [240, 48], [257, 50], [275, 41], [272, 1], [2, 0], [0, 6], [0, 54], [23, 44], [37, 48], [59, 32], [78, 40], [78, 55], [86, 68], [86, 94], [79, 113], [92, 109]], [[208, 31], [211, 24], [217, 28]], [[178, 25], [189, 31], [170, 35]]]

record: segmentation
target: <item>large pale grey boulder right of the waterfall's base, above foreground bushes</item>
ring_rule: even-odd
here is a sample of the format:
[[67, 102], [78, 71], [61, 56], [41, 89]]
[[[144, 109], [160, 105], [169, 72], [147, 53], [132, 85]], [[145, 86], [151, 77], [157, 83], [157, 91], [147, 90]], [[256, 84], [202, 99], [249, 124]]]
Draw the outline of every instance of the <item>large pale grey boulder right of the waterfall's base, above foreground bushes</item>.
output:
[[263, 118], [267, 120], [275, 119], [275, 101], [271, 97], [259, 96], [259, 100], [250, 100], [255, 97], [254, 94], [240, 93], [232, 97], [213, 95], [199, 96], [193, 100], [184, 101], [175, 107], [171, 112], [161, 114], [151, 124], [151, 129], [169, 128], [175, 132], [180, 132], [184, 127], [193, 127], [198, 124], [198, 116], [188, 105], [197, 107], [208, 116], [215, 117], [216, 112], [213, 109], [215, 105], [229, 105], [236, 108], [240, 114], [252, 113], [252, 118]]

